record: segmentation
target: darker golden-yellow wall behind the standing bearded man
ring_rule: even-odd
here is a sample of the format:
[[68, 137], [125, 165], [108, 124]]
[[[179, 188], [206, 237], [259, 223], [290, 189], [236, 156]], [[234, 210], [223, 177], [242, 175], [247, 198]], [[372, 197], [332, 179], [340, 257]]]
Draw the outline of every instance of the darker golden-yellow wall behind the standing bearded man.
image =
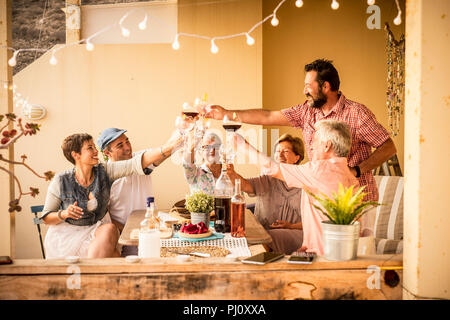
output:
[[[263, 16], [270, 15], [278, 0], [263, 2]], [[318, 58], [334, 61], [341, 79], [341, 91], [351, 100], [365, 104], [388, 129], [386, 109], [386, 35], [388, 21], [398, 39], [405, 24], [395, 26], [394, 1], [376, 1], [381, 9], [381, 29], [369, 30], [367, 1], [339, 1], [332, 10], [331, 1], [304, 1], [302, 8], [287, 1], [278, 10], [280, 23], [264, 24], [263, 108], [279, 110], [305, 101], [304, 66]], [[404, 1], [400, 1], [404, 11]], [[403, 15], [404, 20], [404, 15]], [[272, 127], [267, 127], [272, 129]], [[280, 134], [301, 132], [281, 127]], [[403, 168], [403, 117], [400, 134], [393, 138]], [[307, 158], [305, 159], [305, 161]]]

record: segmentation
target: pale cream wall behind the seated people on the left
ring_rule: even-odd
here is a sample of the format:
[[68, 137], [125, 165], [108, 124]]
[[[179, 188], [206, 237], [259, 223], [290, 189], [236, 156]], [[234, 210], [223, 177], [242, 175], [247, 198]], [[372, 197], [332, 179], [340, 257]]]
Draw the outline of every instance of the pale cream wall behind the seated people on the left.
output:
[[[259, 0], [179, 4], [179, 32], [227, 35], [261, 20]], [[60, 149], [64, 137], [88, 132], [96, 138], [113, 126], [128, 129], [135, 150], [159, 147], [174, 129], [183, 102], [193, 102], [204, 92], [210, 103], [261, 107], [261, 29], [254, 37], [252, 47], [243, 37], [218, 41], [217, 55], [209, 51], [208, 41], [192, 38], [180, 38], [179, 51], [170, 44], [96, 45], [92, 52], [84, 45], [67, 47], [57, 53], [56, 66], [48, 63], [47, 53], [14, 79], [18, 92], [48, 111], [39, 121], [39, 134], [17, 144], [16, 156], [26, 153], [39, 172], [65, 170], [71, 165]], [[249, 165], [238, 170], [247, 176], [258, 174]], [[17, 258], [38, 258], [39, 240], [28, 208], [44, 203], [48, 183], [21, 168], [17, 172], [24, 186], [41, 190], [36, 199], [23, 199], [24, 211], [17, 215]], [[188, 192], [182, 167], [170, 160], [152, 175], [159, 208], [170, 207]], [[6, 205], [1, 203], [2, 208]]]

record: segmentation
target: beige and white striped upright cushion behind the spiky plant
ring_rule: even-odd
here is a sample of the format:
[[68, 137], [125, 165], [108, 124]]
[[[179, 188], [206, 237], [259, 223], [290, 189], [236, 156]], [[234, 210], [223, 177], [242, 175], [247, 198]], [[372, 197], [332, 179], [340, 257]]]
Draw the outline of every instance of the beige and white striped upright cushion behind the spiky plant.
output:
[[[375, 214], [374, 236], [379, 239], [403, 239], [403, 184], [399, 176], [375, 176], [379, 199]], [[385, 245], [384, 242], [383, 244]], [[393, 244], [389, 244], [390, 247]], [[378, 243], [377, 252], [378, 252]]]

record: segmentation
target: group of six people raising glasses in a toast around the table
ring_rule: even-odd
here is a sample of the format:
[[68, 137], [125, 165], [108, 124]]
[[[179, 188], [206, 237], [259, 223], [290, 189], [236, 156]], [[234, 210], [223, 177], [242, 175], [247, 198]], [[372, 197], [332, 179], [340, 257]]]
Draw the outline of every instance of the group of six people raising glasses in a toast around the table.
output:
[[[297, 106], [267, 111], [209, 105], [197, 110], [214, 120], [238, 118], [242, 123], [301, 129], [303, 141], [291, 135], [278, 139], [273, 159], [233, 133], [236, 152], [258, 159], [262, 169], [258, 177], [243, 177], [232, 164], [221, 161], [222, 141], [208, 130], [197, 143], [175, 131], [161, 147], [133, 153], [126, 130], [109, 128], [97, 139], [109, 158], [107, 163], [99, 163], [92, 136], [67, 137], [62, 149], [74, 167], [56, 175], [48, 188], [42, 216], [50, 225], [45, 239], [47, 258], [132, 254], [133, 247], [120, 252], [119, 233], [129, 214], [143, 209], [143, 199], [153, 195], [152, 172], [183, 144], [183, 170], [191, 191], [213, 194], [222, 166], [226, 166], [231, 181], [240, 180], [242, 191], [256, 197], [255, 216], [272, 237], [269, 250], [322, 255], [320, 222], [327, 218], [314, 207], [306, 190], [331, 196], [339, 184], [366, 186], [366, 200], [376, 201], [372, 170], [394, 155], [396, 148], [374, 114], [339, 90], [339, 74], [331, 61], [315, 60], [304, 71], [307, 99]], [[309, 161], [301, 164], [305, 153]], [[196, 154], [201, 161], [195, 161]]]

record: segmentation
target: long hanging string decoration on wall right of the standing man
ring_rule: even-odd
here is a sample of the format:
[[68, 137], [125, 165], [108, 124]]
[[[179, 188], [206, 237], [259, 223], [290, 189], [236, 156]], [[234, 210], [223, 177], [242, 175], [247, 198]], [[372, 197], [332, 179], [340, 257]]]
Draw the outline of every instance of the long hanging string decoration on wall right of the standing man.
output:
[[400, 132], [400, 117], [405, 103], [405, 35], [395, 40], [389, 24], [385, 24], [387, 36], [387, 91], [386, 106], [388, 110], [389, 129], [392, 136]]

